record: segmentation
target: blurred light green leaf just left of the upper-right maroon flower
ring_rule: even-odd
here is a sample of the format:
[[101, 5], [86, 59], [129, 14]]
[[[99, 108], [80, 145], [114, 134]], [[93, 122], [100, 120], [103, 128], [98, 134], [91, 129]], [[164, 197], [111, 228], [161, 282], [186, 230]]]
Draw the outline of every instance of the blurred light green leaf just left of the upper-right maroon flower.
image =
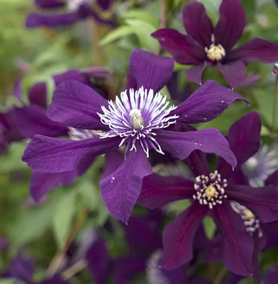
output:
[[159, 42], [151, 37], [157, 28], [143, 20], [126, 20], [126, 23], [134, 29], [137, 35], [141, 47], [152, 52], [156, 52], [159, 49]]

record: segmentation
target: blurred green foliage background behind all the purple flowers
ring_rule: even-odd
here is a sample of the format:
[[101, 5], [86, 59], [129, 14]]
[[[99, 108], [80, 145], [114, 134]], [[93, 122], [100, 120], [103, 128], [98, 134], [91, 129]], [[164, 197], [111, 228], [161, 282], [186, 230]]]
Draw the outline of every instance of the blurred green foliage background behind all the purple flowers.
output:
[[[221, 0], [199, 0], [214, 23], [218, 20]], [[119, 17], [119, 26], [109, 29], [92, 19], [79, 21], [64, 28], [26, 29], [24, 22], [31, 11], [35, 11], [32, 0], [0, 0], [0, 101], [4, 111], [13, 104], [19, 104], [13, 96], [15, 82], [23, 78], [23, 96], [27, 102], [28, 89], [39, 81], [47, 82], [48, 101], [54, 89], [52, 75], [71, 68], [104, 66], [111, 76], [107, 81], [111, 98], [119, 94], [125, 83], [129, 57], [134, 48], [143, 48], [168, 56], [159, 49], [159, 43], [150, 34], [166, 21], [167, 27], [184, 32], [182, 7], [186, 0], [129, 0], [116, 1], [114, 10]], [[274, 0], [242, 0], [247, 15], [247, 26], [238, 44], [254, 37], [278, 43], [278, 3]], [[162, 3], [162, 4], [161, 4]], [[166, 18], [165, 18], [166, 10]], [[163, 13], [163, 14], [161, 14]], [[189, 93], [198, 86], [186, 80], [184, 70], [176, 64], [179, 87], [188, 86]], [[274, 116], [272, 106], [278, 109], [274, 100], [275, 77], [272, 65], [255, 62], [247, 67], [249, 74], [259, 76], [255, 85], [237, 89], [250, 101], [248, 108], [234, 103], [221, 117], [199, 125], [199, 128], [217, 127], [224, 134], [239, 117], [251, 110], [262, 115], [262, 137], [266, 142], [277, 138], [278, 110]], [[203, 81], [213, 79], [227, 85], [222, 75], [213, 68], [205, 71]], [[167, 93], [167, 89], [162, 92]], [[0, 236], [10, 241], [10, 250], [0, 255], [0, 270], [3, 269], [22, 243], [28, 243], [28, 251], [37, 257], [40, 279], [43, 268], [47, 267], [55, 253], [65, 249], [72, 230], [81, 227], [80, 235], [86, 228], [102, 226], [109, 218], [102, 203], [98, 182], [104, 165], [99, 157], [90, 170], [72, 186], [51, 191], [46, 201], [30, 205], [29, 180], [31, 170], [21, 162], [25, 142], [14, 142], [6, 154], [0, 156]], [[180, 211], [185, 203], [177, 203], [173, 210]], [[136, 208], [140, 213], [142, 208]], [[124, 236], [119, 223], [112, 220], [115, 230], [113, 237], [106, 234], [110, 250], [114, 255], [125, 251]], [[208, 236], [213, 236], [215, 227], [211, 220], [205, 220]], [[82, 224], [82, 225], [81, 225]], [[105, 229], [103, 229], [105, 231]], [[105, 234], [105, 232], [104, 232]], [[278, 251], [262, 254], [263, 269], [278, 263]], [[218, 266], [208, 265], [207, 276], [214, 279]], [[84, 276], [86, 279], [87, 276]], [[0, 281], [0, 284], [6, 282]], [[242, 284], [252, 283], [244, 280]]]

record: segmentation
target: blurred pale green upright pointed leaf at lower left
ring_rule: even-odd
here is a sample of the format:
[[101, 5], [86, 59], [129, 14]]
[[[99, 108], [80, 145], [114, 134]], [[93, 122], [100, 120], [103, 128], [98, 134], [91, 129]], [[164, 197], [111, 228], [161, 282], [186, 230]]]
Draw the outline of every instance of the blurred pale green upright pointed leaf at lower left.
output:
[[76, 213], [76, 196], [77, 191], [75, 189], [71, 192], [66, 192], [59, 203], [57, 203], [53, 212], [53, 232], [59, 249], [65, 244], [73, 223]]

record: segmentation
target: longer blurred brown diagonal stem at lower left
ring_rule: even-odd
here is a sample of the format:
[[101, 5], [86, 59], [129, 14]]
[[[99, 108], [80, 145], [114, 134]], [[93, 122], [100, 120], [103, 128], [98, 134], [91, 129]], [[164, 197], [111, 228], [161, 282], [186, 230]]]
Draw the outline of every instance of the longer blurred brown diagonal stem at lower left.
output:
[[78, 216], [77, 220], [73, 224], [73, 227], [66, 239], [66, 242], [62, 250], [58, 251], [53, 257], [52, 261], [50, 262], [50, 265], [46, 271], [47, 276], [53, 276], [57, 272], [57, 270], [59, 270], [59, 268], [61, 267], [64, 261], [65, 254], [69, 249], [71, 243], [74, 241], [79, 229], [82, 227], [84, 221], [86, 220], [88, 213], [89, 209], [85, 208]]

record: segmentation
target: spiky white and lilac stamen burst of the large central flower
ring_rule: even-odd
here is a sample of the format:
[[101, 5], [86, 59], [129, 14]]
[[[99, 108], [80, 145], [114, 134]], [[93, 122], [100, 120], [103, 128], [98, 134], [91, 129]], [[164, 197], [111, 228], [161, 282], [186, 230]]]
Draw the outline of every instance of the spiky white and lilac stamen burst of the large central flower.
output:
[[122, 140], [119, 144], [121, 147], [127, 144], [126, 149], [136, 151], [136, 142], [140, 143], [147, 157], [149, 149], [154, 149], [160, 154], [164, 154], [155, 139], [155, 129], [166, 128], [176, 122], [177, 115], [168, 116], [170, 112], [176, 109], [170, 106], [166, 96], [160, 93], [154, 94], [152, 89], [147, 90], [141, 87], [134, 92], [129, 89], [120, 93], [115, 102], [109, 101], [109, 107], [101, 107], [103, 114], [99, 114], [101, 122], [108, 125], [111, 129], [102, 133], [101, 138], [120, 136]]

